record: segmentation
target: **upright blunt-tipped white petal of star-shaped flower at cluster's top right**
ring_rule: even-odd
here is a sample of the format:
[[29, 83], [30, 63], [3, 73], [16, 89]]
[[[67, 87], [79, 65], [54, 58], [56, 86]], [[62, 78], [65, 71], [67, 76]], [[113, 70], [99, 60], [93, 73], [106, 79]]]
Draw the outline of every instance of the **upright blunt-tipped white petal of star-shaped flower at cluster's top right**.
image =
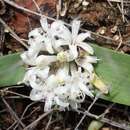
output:
[[73, 20], [72, 21], [72, 39], [76, 39], [78, 32], [80, 28], [80, 21], [79, 20]]

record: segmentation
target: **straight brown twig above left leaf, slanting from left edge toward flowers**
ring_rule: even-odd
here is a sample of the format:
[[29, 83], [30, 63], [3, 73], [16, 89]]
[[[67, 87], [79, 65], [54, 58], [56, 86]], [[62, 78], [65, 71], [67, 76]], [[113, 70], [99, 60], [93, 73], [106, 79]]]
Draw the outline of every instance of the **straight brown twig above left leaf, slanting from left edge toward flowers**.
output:
[[19, 41], [24, 47], [28, 48], [28, 46], [19, 38], [19, 36], [0, 18], [0, 23], [12, 34], [17, 41]]

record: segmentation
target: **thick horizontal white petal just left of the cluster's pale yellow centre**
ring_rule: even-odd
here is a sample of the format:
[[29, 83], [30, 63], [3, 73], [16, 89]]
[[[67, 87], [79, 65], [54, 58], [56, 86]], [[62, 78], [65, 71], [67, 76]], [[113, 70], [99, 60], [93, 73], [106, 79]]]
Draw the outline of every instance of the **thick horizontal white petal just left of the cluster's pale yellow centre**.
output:
[[48, 66], [50, 63], [57, 60], [56, 56], [40, 55], [36, 58], [37, 66]]

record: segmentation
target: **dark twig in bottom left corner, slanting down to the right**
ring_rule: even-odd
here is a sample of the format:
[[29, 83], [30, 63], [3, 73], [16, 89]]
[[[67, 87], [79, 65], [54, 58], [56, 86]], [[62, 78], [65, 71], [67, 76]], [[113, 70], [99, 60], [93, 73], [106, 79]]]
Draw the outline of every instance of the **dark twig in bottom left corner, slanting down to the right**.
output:
[[2, 101], [4, 102], [4, 104], [6, 105], [6, 107], [8, 108], [10, 114], [13, 116], [15, 121], [19, 121], [21, 126], [24, 128], [25, 125], [23, 124], [23, 122], [19, 119], [19, 117], [17, 116], [17, 114], [13, 111], [13, 109], [10, 107], [10, 105], [6, 102], [6, 100], [2, 97]]

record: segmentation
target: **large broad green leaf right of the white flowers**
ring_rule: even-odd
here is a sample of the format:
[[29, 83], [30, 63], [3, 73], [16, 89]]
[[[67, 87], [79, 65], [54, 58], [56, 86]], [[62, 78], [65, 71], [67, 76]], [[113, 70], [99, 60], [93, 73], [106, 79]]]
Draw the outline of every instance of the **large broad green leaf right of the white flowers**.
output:
[[100, 59], [95, 66], [100, 79], [110, 87], [103, 99], [130, 106], [130, 56], [93, 45]]

